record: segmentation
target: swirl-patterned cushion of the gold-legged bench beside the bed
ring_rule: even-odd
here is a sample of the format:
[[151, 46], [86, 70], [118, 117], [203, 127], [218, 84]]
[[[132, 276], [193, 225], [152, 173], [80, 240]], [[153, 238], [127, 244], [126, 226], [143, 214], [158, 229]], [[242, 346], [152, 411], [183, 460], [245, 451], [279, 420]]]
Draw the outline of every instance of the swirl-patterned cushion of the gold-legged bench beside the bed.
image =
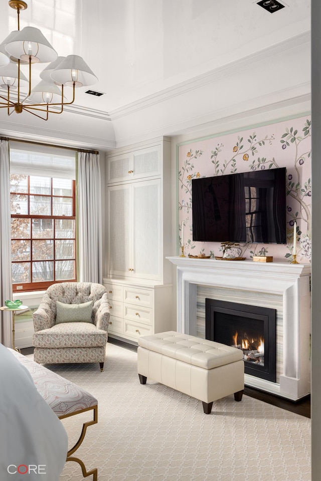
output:
[[98, 404], [97, 399], [82, 387], [37, 364], [19, 352], [13, 349], [10, 349], [10, 351], [28, 369], [37, 391], [58, 417]]

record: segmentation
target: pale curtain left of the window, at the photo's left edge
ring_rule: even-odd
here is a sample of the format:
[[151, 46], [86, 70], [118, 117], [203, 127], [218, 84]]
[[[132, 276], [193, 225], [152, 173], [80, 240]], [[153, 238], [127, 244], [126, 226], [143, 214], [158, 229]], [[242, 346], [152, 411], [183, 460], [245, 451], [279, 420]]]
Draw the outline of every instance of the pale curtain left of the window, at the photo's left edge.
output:
[[[9, 142], [0, 140], [0, 307], [12, 299]], [[11, 312], [0, 311], [0, 341], [11, 347]]]

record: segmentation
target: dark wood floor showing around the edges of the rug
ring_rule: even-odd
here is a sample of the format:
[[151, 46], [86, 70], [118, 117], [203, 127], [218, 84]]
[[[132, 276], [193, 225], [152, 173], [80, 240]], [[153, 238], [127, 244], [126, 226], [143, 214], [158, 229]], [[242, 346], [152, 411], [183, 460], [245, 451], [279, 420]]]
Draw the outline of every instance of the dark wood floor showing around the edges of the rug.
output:
[[[108, 342], [111, 344], [116, 344], [117, 346], [123, 347], [125, 349], [129, 349], [130, 351], [137, 352], [137, 346], [132, 344], [128, 344], [127, 342], [120, 341], [118, 339], [114, 339], [109, 337]], [[32, 354], [34, 351], [33, 347], [22, 349], [22, 354]], [[249, 386], [245, 386], [244, 394], [250, 397], [254, 397], [263, 402], [267, 402], [269, 404], [273, 404], [273, 406], [280, 407], [282, 409], [286, 409], [287, 411], [295, 412], [296, 414], [300, 414], [301, 416], [311, 417], [310, 414], [310, 396], [306, 396], [299, 401], [288, 401], [279, 396], [275, 396], [273, 394], [268, 394], [264, 391], [260, 391], [258, 389], [254, 389]]]

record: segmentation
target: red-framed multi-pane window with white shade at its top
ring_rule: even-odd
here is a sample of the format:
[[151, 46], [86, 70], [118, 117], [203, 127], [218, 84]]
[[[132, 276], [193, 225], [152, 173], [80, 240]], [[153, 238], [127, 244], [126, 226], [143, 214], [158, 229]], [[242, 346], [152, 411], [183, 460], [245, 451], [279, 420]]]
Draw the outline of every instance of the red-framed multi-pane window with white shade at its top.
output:
[[13, 291], [76, 281], [74, 174], [63, 172], [63, 158], [57, 155], [11, 149], [10, 162]]

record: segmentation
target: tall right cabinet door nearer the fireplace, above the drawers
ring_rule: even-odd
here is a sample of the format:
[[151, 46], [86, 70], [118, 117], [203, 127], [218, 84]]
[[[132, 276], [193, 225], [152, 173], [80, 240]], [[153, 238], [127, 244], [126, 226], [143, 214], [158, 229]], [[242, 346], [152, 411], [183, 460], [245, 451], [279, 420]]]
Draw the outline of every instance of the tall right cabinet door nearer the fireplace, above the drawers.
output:
[[161, 179], [133, 185], [133, 277], [162, 279]]

